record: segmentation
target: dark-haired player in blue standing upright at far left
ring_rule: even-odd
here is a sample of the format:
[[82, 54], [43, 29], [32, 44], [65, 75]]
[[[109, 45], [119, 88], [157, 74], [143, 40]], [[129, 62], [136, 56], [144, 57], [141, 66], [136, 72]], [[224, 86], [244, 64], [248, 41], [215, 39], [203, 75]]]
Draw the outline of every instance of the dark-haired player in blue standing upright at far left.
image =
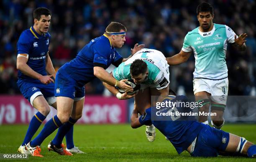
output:
[[[40, 127], [50, 107], [56, 109], [54, 96], [55, 70], [49, 56], [51, 35], [48, 33], [51, 13], [47, 8], [37, 8], [33, 13], [34, 25], [21, 33], [17, 43], [18, 87], [23, 96], [38, 110], [29, 124], [25, 139], [18, 152], [29, 154], [25, 145]], [[67, 134], [67, 144], [73, 152], [82, 153], [74, 147], [73, 130]]]

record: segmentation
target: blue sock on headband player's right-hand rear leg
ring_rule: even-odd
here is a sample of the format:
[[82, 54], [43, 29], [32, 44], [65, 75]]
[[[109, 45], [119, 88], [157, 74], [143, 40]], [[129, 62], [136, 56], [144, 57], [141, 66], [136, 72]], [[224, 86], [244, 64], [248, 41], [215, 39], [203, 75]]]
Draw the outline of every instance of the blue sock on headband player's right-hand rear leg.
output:
[[56, 134], [56, 136], [54, 137], [54, 139], [52, 140], [52, 143], [57, 147], [60, 148], [61, 142], [64, 138], [64, 136], [67, 134], [67, 132], [69, 131], [69, 129], [71, 127], [73, 127], [73, 125], [77, 122], [77, 120], [72, 119], [71, 117], [69, 117], [69, 121], [65, 124], [63, 124], [61, 127], [59, 127], [59, 130]]

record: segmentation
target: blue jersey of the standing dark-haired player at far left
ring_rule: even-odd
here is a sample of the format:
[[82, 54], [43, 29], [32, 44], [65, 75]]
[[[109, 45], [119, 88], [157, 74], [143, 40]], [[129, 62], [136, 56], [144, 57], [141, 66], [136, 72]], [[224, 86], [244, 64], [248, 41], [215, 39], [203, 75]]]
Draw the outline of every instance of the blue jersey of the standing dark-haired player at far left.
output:
[[[39, 35], [34, 30], [33, 26], [30, 29], [24, 30], [20, 38], [17, 42], [17, 54], [28, 54], [28, 66], [45, 76], [46, 73], [46, 55], [49, 48], [51, 35], [49, 33], [45, 33], [43, 35]], [[18, 79], [32, 79], [40, 82], [37, 79], [31, 78], [30, 76], [26, 76], [20, 70], [18, 70]]]

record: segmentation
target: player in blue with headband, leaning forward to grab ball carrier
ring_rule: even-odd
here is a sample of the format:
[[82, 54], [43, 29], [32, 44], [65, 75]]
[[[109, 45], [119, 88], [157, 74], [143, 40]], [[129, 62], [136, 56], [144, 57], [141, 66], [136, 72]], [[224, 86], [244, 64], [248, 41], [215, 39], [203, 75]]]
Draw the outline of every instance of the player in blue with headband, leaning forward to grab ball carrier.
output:
[[[118, 81], [105, 71], [111, 63], [118, 66], [128, 59], [122, 58], [115, 50], [115, 48], [123, 46], [125, 32], [126, 28], [123, 24], [110, 23], [102, 36], [91, 40], [79, 51], [76, 58], [69, 63], [65, 63], [58, 70], [55, 80], [58, 112], [56, 116], [45, 124], [40, 134], [26, 145], [32, 156], [42, 156], [39, 149], [41, 143], [57, 128], [59, 130], [55, 138], [49, 143], [48, 149], [63, 154], [61, 142], [64, 135], [82, 116], [85, 94], [84, 85], [95, 77], [110, 85], [118, 86], [127, 92], [133, 91], [131, 86], [125, 84], [127, 80]], [[131, 49], [132, 55], [143, 47], [144, 45], [136, 44]], [[122, 95], [127, 96], [127, 93]]]

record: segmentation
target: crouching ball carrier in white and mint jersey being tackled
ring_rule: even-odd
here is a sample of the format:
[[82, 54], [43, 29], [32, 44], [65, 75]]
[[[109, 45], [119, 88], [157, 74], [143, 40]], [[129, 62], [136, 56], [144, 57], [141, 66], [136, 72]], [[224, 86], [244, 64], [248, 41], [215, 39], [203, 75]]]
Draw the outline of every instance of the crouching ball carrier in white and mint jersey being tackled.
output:
[[[128, 79], [141, 85], [135, 96], [127, 95], [127, 93], [120, 94], [114, 86], [103, 83], [118, 99], [129, 99], [134, 96], [134, 109], [140, 114], [144, 114], [148, 107], [155, 105], [155, 103], [151, 103], [151, 96], [157, 96], [159, 101], [168, 96], [169, 65], [160, 51], [143, 48], [115, 68], [112, 75], [118, 81]], [[146, 137], [149, 142], [154, 141], [156, 137], [154, 125], [146, 126]]]

